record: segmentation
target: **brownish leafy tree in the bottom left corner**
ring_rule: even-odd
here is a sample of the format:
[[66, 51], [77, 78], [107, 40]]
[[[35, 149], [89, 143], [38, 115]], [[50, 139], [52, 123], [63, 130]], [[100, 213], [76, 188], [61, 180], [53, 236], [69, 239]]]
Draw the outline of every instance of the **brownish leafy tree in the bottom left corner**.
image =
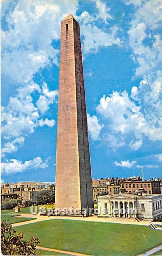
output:
[[36, 255], [35, 248], [38, 244], [40, 244], [38, 238], [31, 237], [29, 241], [24, 240], [24, 235], [17, 233], [7, 220], [1, 223], [1, 251], [3, 255]]

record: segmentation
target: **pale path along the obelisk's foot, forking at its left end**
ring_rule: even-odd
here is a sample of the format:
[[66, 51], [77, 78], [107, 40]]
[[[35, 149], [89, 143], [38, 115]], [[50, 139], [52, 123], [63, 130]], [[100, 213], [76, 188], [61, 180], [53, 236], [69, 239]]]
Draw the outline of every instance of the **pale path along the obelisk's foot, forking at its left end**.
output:
[[[146, 221], [146, 220], [142, 220], [140, 222], [135, 221], [134, 219], [127, 219], [124, 220], [123, 218], [117, 219], [117, 218], [98, 218], [96, 217], [96, 215], [93, 216], [89, 216], [86, 218], [83, 217], [73, 217], [73, 216], [43, 216], [38, 214], [31, 214], [31, 213], [22, 213], [21, 214], [22, 217], [25, 218], [36, 218], [35, 220], [28, 220], [28, 221], [23, 221], [23, 222], [18, 222], [18, 223], [13, 223], [12, 227], [18, 227], [21, 225], [27, 225], [30, 223], [35, 223], [35, 222], [39, 222], [39, 221], [44, 221], [44, 220], [81, 220], [81, 221], [95, 221], [95, 222], [105, 222], [105, 223], [120, 223], [120, 224], [131, 224], [131, 225], [144, 225], [144, 226], [148, 226], [150, 224], [150, 221]], [[20, 217], [20, 216], [17, 216]], [[16, 216], [13, 218], [17, 218]]]

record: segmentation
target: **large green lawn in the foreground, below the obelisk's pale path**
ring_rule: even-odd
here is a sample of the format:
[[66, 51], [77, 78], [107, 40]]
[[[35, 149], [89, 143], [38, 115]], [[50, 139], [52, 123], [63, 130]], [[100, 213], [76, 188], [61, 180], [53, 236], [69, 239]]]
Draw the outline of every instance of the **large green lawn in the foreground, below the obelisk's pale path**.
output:
[[47, 220], [15, 228], [40, 246], [90, 255], [136, 255], [161, 244], [162, 231], [146, 226], [77, 220]]

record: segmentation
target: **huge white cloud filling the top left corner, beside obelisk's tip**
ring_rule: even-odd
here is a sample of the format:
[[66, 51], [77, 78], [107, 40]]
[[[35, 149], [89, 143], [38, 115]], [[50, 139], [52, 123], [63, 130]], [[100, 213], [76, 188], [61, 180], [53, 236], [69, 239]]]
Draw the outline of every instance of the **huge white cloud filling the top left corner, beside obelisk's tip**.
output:
[[[2, 73], [17, 82], [29, 82], [39, 68], [51, 65], [50, 59], [58, 65], [59, 51], [51, 42], [59, 39], [60, 21], [68, 12], [75, 13], [77, 4], [76, 0], [15, 4], [6, 17], [9, 29], [2, 30]], [[4, 1], [2, 11], [7, 7]]]

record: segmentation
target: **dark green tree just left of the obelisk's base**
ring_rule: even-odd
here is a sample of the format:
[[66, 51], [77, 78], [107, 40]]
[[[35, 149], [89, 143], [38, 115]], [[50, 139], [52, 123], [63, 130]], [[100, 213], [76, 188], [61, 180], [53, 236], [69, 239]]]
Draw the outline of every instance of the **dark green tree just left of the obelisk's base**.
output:
[[37, 193], [36, 200], [38, 204], [51, 204], [55, 202], [55, 194], [51, 190], [41, 190]]

